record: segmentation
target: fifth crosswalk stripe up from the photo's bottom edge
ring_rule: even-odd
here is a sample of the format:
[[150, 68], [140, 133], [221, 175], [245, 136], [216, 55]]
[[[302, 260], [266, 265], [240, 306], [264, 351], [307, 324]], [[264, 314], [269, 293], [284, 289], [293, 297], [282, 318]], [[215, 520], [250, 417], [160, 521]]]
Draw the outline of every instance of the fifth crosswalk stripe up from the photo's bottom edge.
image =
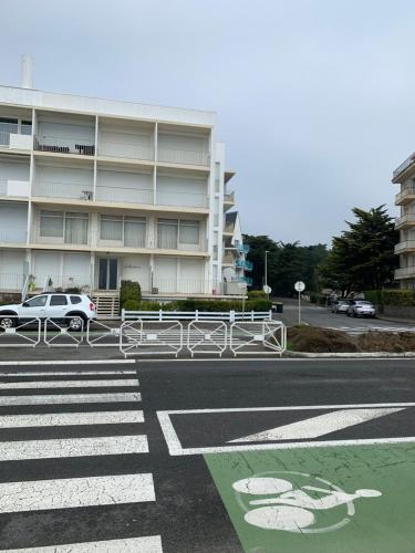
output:
[[51, 404], [112, 404], [114, 401], [141, 401], [137, 394], [51, 394], [48, 396], [0, 396], [0, 407], [9, 405], [51, 405]]

